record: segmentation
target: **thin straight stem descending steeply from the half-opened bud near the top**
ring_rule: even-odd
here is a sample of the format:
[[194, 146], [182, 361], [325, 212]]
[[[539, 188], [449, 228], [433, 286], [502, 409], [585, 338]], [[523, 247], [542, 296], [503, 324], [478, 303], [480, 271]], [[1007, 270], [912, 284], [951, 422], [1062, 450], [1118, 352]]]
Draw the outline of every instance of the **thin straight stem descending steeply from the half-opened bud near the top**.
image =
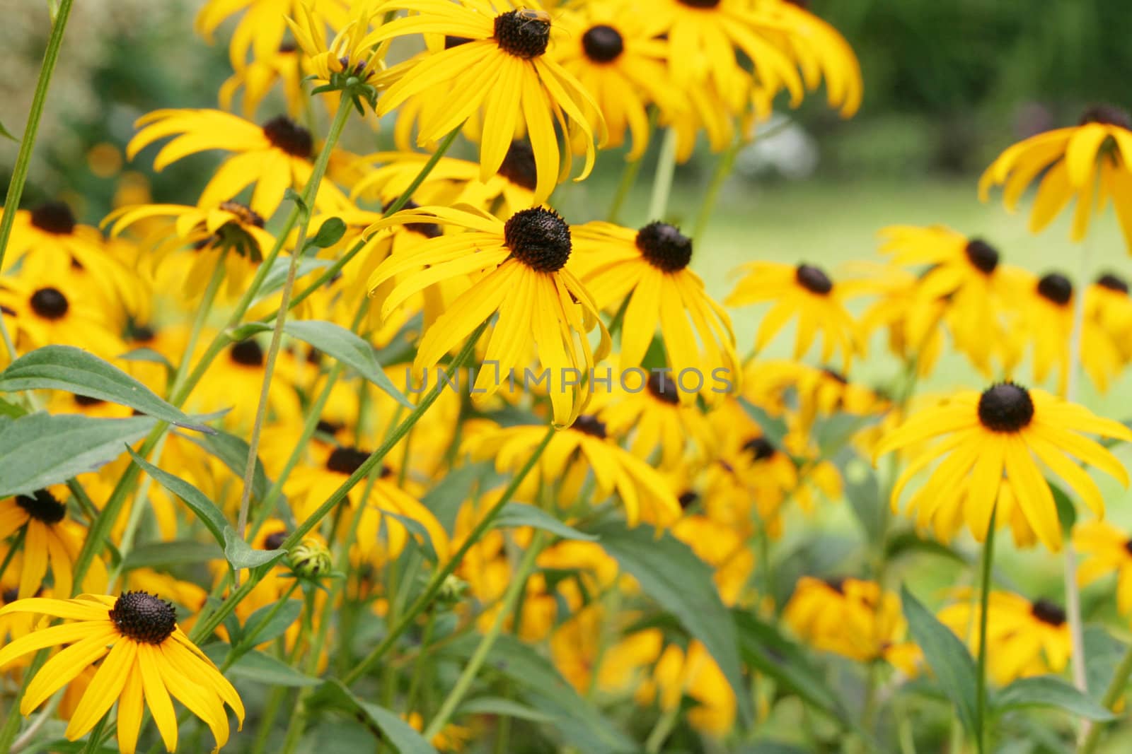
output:
[[[272, 390], [272, 378], [275, 376], [275, 362], [278, 358], [280, 346], [283, 345], [283, 326], [286, 323], [286, 313], [290, 311], [289, 304], [291, 303], [291, 293], [294, 291], [294, 278], [299, 271], [299, 259], [302, 258], [303, 246], [307, 243], [311, 206], [318, 193], [318, 187], [323, 182], [323, 176], [326, 174], [326, 167], [331, 163], [331, 154], [334, 151], [334, 146], [342, 137], [342, 131], [350, 119], [349, 105], [349, 96], [343, 92], [342, 99], [338, 102], [338, 111], [334, 115], [334, 122], [331, 123], [331, 132], [326, 137], [326, 142], [323, 145], [321, 151], [318, 153], [318, 159], [315, 161], [310, 180], [307, 181], [307, 188], [302, 192], [302, 205], [299, 208], [302, 222], [299, 224], [299, 236], [294, 249], [291, 251], [291, 263], [288, 265], [286, 281], [283, 284], [283, 292], [280, 296], [280, 313], [275, 318], [272, 341], [267, 347], [267, 359], [264, 363], [264, 381], [259, 388], [259, 404], [256, 407], [256, 418], [251, 425], [251, 439], [248, 441], [248, 462], [243, 469], [243, 492], [240, 494], [240, 511], [235, 519], [235, 534], [241, 539], [246, 539], [248, 534], [248, 509], [251, 505], [251, 484], [256, 477], [256, 459], [259, 457], [259, 437], [264, 431], [264, 421], [267, 418], [267, 399]], [[235, 569], [232, 578], [235, 586], [240, 586], [239, 569]]]

